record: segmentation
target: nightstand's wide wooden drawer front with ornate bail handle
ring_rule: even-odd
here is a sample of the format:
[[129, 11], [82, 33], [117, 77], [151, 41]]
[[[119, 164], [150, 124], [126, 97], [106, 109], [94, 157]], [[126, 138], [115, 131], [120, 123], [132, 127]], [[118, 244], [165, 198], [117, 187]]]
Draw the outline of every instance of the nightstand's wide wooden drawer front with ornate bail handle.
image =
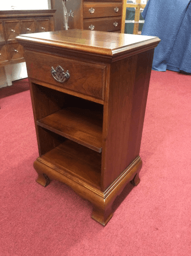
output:
[[[30, 78], [56, 85], [59, 88], [104, 99], [105, 65], [91, 64], [27, 50], [25, 51], [25, 60], [28, 77]], [[57, 82], [51, 73], [52, 67], [56, 71], [58, 66], [61, 66], [64, 72], [68, 71], [70, 75], [68, 80], [63, 83]]]

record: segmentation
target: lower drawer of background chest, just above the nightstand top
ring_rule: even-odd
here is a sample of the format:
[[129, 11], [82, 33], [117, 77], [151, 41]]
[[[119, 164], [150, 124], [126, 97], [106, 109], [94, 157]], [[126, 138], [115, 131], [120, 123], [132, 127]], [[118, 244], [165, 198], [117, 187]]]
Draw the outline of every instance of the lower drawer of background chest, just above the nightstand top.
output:
[[84, 20], [84, 30], [112, 32], [121, 29], [121, 17]]

